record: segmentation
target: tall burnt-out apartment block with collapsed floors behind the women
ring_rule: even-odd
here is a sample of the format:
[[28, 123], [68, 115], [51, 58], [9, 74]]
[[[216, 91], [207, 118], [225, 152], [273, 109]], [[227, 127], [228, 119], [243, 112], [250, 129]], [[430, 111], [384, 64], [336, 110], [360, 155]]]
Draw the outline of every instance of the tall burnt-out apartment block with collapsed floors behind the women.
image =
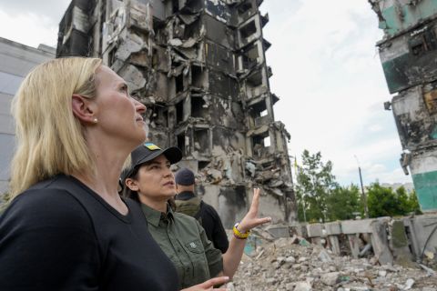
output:
[[198, 193], [229, 227], [263, 191], [260, 216], [295, 219], [287, 144], [269, 90], [262, 0], [74, 0], [56, 56], [97, 56], [147, 105], [148, 139], [178, 146]]

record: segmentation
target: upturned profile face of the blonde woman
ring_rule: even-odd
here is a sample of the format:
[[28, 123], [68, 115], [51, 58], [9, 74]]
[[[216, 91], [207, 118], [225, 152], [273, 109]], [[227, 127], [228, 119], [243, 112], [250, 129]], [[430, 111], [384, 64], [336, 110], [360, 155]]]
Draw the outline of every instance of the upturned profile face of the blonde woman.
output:
[[130, 97], [127, 84], [106, 65], [97, 69], [97, 126], [104, 135], [137, 146], [146, 139], [146, 106]]

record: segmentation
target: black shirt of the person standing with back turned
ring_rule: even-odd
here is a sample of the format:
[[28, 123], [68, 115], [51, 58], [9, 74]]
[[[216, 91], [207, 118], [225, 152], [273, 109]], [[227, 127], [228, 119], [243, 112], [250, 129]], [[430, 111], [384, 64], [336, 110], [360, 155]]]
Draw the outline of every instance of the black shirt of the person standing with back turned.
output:
[[[184, 191], [176, 196], [177, 200], [188, 200], [195, 197], [193, 192]], [[208, 239], [218, 248], [222, 254], [226, 253], [229, 247], [228, 236], [225, 228], [221, 223], [221, 219], [216, 209], [205, 202], [200, 203], [200, 210], [196, 214], [196, 218], [200, 217], [201, 225], [205, 229]]]

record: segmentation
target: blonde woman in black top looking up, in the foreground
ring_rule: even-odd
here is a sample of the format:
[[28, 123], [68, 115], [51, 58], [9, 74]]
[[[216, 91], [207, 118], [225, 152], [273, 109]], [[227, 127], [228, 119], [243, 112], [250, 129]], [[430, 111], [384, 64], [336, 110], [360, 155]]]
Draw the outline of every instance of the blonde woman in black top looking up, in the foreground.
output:
[[177, 290], [141, 209], [117, 194], [127, 156], [146, 139], [145, 109], [100, 59], [56, 59], [25, 77], [13, 101], [0, 290]]

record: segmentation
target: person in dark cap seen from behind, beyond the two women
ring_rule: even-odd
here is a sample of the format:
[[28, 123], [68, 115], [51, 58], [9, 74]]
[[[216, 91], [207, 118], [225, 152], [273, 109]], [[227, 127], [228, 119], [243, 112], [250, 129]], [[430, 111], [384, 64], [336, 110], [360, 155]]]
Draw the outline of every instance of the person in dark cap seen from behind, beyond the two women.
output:
[[229, 247], [228, 236], [214, 207], [195, 195], [194, 173], [186, 167], [181, 168], [175, 174], [175, 182], [178, 191], [178, 195], [175, 197], [176, 212], [198, 219], [214, 247], [225, 254]]

